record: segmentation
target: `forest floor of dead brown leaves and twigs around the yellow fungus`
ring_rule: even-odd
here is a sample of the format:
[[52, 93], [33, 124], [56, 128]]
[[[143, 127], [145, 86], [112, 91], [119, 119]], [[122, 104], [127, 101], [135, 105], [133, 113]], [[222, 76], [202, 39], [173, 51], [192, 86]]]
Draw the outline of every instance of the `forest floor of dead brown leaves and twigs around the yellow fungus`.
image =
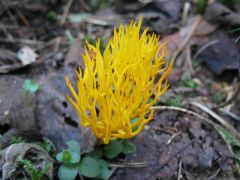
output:
[[[104, 49], [114, 27], [142, 17], [142, 27], [168, 41], [177, 58], [154, 120], [131, 140], [136, 153], [111, 161], [110, 179], [239, 179], [240, 4], [214, 1], [198, 15], [194, 2], [1, 1], [2, 177], [23, 176], [16, 157], [33, 153], [54, 164], [48, 178], [56, 178], [55, 154], [71, 139], [91, 151], [95, 138], [66, 100], [64, 76], [74, 79], [84, 67], [86, 40], [100, 38]], [[38, 149], [49, 142], [49, 154]]]

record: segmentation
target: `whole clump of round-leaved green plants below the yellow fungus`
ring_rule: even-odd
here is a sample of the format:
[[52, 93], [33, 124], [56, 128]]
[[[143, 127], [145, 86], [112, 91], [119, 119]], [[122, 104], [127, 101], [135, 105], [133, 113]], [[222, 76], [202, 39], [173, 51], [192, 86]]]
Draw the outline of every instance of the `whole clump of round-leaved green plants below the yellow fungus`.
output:
[[113, 171], [101, 158], [105, 156], [113, 159], [121, 153], [130, 154], [136, 151], [136, 146], [129, 141], [114, 140], [107, 145], [96, 146], [82, 158], [80, 145], [76, 141], [68, 141], [66, 144], [68, 148], [56, 155], [56, 159], [62, 163], [58, 169], [60, 180], [73, 180], [78, 173], [88, 178], [108, 179]]

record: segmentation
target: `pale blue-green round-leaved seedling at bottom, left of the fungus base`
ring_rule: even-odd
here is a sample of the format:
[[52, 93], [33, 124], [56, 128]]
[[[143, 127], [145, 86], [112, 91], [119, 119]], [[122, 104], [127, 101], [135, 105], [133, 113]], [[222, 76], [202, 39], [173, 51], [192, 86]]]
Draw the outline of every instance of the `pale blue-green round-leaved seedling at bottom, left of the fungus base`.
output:
[[96, 179], [108, 179], [112, 175], [108, 163], [100, 159], [102, 152], [99, 147], [82, 158], [81, 147], [76, 141], [67, 142], [67, 146], [67, 149], [56, 155], [56, 159], [62, 163], [58, 169], [60, 180], [73, 180], [78, 173]]

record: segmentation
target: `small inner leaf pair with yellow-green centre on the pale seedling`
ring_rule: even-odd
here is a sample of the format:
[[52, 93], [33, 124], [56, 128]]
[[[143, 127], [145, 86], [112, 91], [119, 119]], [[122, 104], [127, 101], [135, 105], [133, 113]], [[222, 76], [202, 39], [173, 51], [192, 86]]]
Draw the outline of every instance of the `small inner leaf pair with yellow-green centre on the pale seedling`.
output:
[[56, 159], [61, 162], [74, 164], [80, 161], [80, 155], [76, 152], [64, 150], [63, 152], [57, 154]]

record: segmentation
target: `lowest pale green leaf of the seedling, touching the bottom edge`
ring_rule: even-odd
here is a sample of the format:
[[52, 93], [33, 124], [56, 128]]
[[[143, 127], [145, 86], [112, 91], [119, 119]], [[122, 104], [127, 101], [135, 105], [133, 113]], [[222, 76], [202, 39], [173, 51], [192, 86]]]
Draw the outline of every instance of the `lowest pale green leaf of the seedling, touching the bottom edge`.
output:
[[60, 180], [74, 180], [78, 170], [78, 166], [63, 164], [58, 169], [58, 177]]

